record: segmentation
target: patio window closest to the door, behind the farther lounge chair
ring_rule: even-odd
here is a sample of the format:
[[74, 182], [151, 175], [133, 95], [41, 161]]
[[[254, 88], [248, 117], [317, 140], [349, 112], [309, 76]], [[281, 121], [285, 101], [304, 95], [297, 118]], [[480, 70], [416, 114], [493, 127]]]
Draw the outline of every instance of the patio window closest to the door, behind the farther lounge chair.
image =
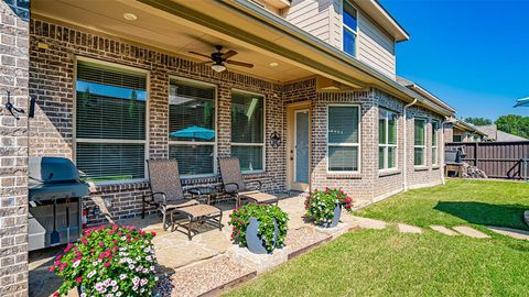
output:
[[264, 97], [231, 92], [231, 156], [242, 172], [264, 170]]

